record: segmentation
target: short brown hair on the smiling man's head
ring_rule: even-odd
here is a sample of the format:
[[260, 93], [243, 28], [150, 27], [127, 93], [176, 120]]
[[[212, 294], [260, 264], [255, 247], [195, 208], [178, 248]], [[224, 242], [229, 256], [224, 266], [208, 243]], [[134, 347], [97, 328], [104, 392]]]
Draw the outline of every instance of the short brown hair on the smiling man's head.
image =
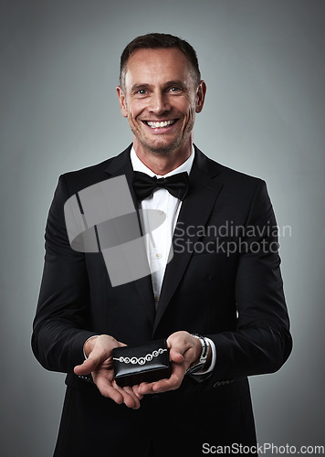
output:
[[134, 38], [126, 46], [126, 48], [124, 48], [121, 54], [120, 84], [122, 88], [124, 86], [127, 63], [131, 54], [137, 49], [158, 48], [180, 49], [189, 61], [190, 67], [193, 71], [195, 83], [199, 84], [201, 80], [201, 72], [194, 48], [187, 41], [180, 37], [174, 37], [173, 35], [165, 33], [149, 33], [147, 35], [142, 35], [140, 37]]

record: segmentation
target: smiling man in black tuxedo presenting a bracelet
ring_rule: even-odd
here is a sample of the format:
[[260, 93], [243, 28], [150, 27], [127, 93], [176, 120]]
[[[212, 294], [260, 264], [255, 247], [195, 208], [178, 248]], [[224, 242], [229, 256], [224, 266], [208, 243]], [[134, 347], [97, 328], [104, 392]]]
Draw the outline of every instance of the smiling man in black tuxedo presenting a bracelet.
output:
[[[276, 220], [263, 181], [194, 146], [205, 90], [187, 42], [135, 38], [122, 53], [117, 88], [133, 143], [60, 176], [32, 340], [44, 367], [68, 373], [57, 457], [198, 456], [240, 445], [255, 452], [247, 377], [278, 370], [292, 345]], [[153, 183], [185, 176], [183, 196], [158, 185], [139, 197], [143, 173]], [[117, 176], [126, 177], [136, 211], [162, 210], [166, 220], [147, 242], [152, 274], [113, 286], [100, 252], [71, 249], [64, 205]], [[147, 233], [144, 218], [141, 225]], [[160, 338], [171, 376], [119, 387], [112, 349]]]

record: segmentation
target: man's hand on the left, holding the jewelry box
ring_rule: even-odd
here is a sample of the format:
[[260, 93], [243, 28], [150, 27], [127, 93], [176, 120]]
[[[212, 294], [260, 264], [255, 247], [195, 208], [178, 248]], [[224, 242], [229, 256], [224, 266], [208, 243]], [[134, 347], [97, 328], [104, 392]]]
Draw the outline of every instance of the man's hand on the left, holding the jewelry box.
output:
[[112, 350], [123, 346], [109, 335], [100, 335], [86, 341], [84, 351], [88, 358], [82, 365], [74, 368], [76, 375], [85, 376], [91, 373], [92, 379], [99, 388], [101, 395], [124, 403], [128, 408], [139, 409], [142, 395], [132, 388], [120, 388], [114, 380]]

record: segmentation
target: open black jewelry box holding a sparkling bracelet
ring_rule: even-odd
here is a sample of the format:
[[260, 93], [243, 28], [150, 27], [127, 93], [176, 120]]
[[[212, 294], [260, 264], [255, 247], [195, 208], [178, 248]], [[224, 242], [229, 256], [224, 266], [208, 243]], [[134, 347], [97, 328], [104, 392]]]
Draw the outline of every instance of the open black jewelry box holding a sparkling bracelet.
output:
[[123, 388], [171, 376], [166, 340], [113, 349], [114, 378]]

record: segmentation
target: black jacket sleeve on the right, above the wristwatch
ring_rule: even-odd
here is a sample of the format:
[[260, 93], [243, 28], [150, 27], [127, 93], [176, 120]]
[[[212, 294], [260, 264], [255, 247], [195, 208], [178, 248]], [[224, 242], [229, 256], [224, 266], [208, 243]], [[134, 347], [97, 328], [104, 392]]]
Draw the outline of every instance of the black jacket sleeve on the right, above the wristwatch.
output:
[[213, 381], [277, 371], [292, 349], [278, 256], [278, 228], [261, 181], [237, 239], [235, 332], [208, 335], [217, 357]]

